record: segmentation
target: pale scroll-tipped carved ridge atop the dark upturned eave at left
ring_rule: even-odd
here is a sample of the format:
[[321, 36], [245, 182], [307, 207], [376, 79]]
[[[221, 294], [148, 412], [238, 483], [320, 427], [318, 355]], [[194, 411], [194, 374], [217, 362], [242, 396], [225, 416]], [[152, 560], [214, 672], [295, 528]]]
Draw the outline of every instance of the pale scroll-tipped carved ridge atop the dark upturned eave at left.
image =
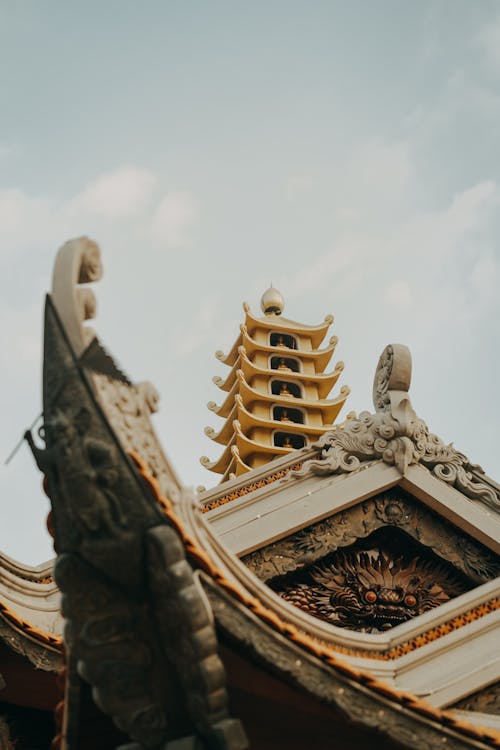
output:
[[158, 411], [158, 391], [149, 382], [132, 384], [86, 324], [97, 309], [94, 292], [87, 284], [101, 277], [99, 246], [87, 237], [69, 240], [57, 254], [52, 299], [73, 351], [85, 366], [124, 449], [135, 451], [146, 461], [162, 492], [175, 502], [180, 481], [151, 424], [151, 415]]

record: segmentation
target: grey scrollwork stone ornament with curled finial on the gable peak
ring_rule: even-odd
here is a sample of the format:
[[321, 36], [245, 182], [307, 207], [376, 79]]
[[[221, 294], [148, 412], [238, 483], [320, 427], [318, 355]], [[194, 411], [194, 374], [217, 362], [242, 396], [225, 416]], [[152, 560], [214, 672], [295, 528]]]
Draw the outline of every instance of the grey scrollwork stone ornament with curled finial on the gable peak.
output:
[[328, 475], [357, 471], [369, 461], [382, 459], [402, 475], [411, 464], [421, 464], [462, 492], [500, 510], [497, 489], [490, 484], [480, 466], [452, 444], [446, 445], [433, 435], [413, 410], [408, 396], [411, 357], [401, 344], [387, 346], [379, 359], [374, 380], [375, 414], [361, 412], [358, 418], [326, 432], [314, 447], [319, 459], [306, 461], [291, 476]]

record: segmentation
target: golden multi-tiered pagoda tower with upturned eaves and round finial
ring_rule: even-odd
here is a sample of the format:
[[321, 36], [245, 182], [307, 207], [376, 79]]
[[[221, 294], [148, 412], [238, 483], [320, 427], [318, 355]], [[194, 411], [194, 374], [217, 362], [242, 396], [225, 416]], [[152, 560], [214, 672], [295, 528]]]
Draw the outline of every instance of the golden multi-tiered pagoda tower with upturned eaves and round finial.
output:
[[263, 317], [254, 317], [244, 303], [245, 323], [231, 351], [215, 354], [230, 370], [225, 379], [213, 378], [225, 396], [220, 406], [210, 401], [208, 408], [224, 425], [219, 432], [206, 427], [205, 434], [225, 448], [216, 461], [206, 456], [200, 461], [222, 474], [222, 482], [317, 440], [331, 429], [349, 395], [343, 386], [337, 397], [327, 398], [344, 369], [338, 362], [325, 373], [336, 336], [319, 348], [333, 317], [303, 325], [281, 317], [284, 306], [273, 286], [262, 295]]

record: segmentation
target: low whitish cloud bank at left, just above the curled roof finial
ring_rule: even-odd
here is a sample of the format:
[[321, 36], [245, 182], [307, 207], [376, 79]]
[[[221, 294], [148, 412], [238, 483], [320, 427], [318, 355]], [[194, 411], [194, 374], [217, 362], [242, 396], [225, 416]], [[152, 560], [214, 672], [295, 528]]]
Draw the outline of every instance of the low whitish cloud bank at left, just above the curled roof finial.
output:
[[157, 176], [147, 169], [120, 166], [91, 180], [63, 199], [19, 188], [0, 189], [0, 257], [50, 248], [81, 234], [116, 245], [125, 234], [163, 248], [190, 244], [198, 216], [193, 193], [171, 191], [155, 206]]

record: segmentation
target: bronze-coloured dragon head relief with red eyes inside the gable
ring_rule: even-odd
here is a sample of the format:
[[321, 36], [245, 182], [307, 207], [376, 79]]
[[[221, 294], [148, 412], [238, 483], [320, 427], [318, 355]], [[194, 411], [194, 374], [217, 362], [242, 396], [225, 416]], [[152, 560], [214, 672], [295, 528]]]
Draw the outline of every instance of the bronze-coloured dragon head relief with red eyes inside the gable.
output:
[[395, 627], [467, 590], [444, 564], [397, 557], [383, 549], [337, 552], [311, 566], [280, 595], [338, 627], [377, 633]]

